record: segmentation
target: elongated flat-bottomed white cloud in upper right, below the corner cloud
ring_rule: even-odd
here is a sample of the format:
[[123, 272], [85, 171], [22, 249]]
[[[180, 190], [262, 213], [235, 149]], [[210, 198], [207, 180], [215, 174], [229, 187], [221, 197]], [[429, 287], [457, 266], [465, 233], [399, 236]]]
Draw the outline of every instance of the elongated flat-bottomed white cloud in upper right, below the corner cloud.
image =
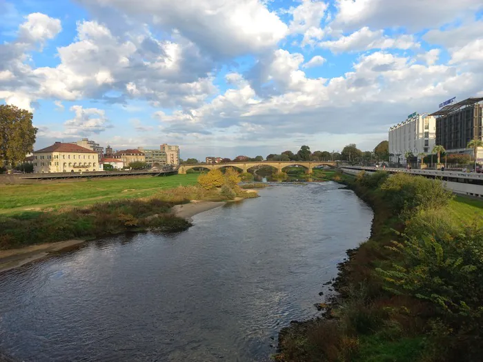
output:
[[364, 26], [346, 37], [334, 41], [322, 41], [319, 47], [330, 49], [332, 52], [361, 52], [371, 49], [410, 49], [419, 48], [412, 35], [399, 35], [395, 38], [384, 36], [383, 30], [372, 31]]

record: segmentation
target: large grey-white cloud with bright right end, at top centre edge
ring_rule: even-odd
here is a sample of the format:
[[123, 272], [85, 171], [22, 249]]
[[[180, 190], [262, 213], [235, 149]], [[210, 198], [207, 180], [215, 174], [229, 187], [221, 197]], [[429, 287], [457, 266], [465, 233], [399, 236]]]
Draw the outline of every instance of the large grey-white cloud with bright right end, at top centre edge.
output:
[[[189, 5], [172, 0], [79, 1], [95, 9], [119, 10], [168, 32], [176, 29], [215, 57], [234, 57], [272, 48], [288, 30], [277, 14], [259, 0], [199, 0]], [[115, 11], [103, 14], [119, 19]]]

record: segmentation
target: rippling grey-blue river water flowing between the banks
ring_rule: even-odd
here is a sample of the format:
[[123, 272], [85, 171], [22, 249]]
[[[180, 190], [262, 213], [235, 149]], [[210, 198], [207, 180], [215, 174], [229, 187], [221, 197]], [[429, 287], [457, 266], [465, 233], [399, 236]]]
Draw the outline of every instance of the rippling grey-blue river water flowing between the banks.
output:
[[24, 361], [268, 361], [317, 315], [373, 213], [336, 183], [277, 185], [179, 234], [127, 234], [0, 274], [0, 349]]

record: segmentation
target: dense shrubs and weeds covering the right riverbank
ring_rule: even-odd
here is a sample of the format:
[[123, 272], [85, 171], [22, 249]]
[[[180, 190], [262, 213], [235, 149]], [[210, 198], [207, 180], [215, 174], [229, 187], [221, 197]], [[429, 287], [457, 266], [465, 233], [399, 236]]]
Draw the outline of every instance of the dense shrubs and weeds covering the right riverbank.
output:
[[375, 212], [371, 239], [339, 266], [324, 318], [279, 335], [277, 361], [481, 361], [483, 230], [442, 183], [337, 174]]

